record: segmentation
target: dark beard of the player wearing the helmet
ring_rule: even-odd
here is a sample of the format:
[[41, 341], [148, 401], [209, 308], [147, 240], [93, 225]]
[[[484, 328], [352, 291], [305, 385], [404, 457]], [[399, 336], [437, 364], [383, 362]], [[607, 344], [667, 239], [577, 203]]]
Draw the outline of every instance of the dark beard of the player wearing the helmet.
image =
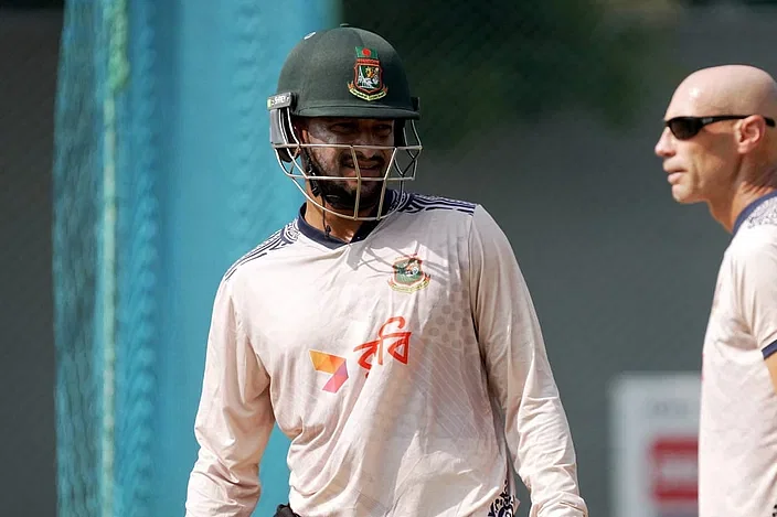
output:
[[[382, 157], [374, 157], [373, 159], [380, 162], [379, 165], [382, 171], [385, 169], [385, 160]], [[343, 154], [338, 160], [341, 168], [351, 166], [354, 168], [352, 157], [350, 154]], [[332, 176], [324, 171], [323, 166], [310, 154], [306, 153], [306, 170], [309, 175], [312, 176]], [[385, 171], [384, 171], [385, 173]], [[359, 198], [359, 212], [371, 211], [377, 207], [381, 201], [381, 193], [383, 192], [383, 184], [385, 181], [370, 179], [364, 181], [362, 179], [361, 186], [350, 187], [348, 185], [349, 181], [358, 181], [355, 177], [343, 177], [343, 180], [310, 180], [311, 186], [313, 187], [313, 195], [321, 195], [321, 198], [326, 204], [336, 209], [341, 211], [353, 211], [356, 206], [356, 198]], [[318, 194], [316, 193], [318, 191]]]

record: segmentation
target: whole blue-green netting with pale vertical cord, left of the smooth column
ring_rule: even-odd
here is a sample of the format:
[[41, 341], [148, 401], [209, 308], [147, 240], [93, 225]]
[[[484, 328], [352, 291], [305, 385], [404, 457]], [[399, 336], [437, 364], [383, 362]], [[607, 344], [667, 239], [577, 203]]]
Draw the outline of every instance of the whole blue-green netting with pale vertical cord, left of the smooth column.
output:
[[53, 171], [60, 517], [149, 515], [151, 53], [138, 56], [130, 98], [131, 29], [126, 0], [66, 4]]

